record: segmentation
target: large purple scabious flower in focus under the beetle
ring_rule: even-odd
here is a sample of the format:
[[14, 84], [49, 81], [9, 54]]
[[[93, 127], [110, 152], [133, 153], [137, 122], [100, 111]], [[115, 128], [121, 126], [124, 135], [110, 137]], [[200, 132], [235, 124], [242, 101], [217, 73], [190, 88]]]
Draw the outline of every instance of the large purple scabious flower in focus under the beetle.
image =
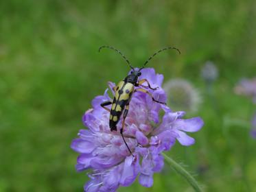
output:
[[[166, 101], [161, 88], [163, 75], [156, 74], [154, 69], [143, 69], [141, 73], [139, 80], [146, 78], [153, 88], [159, 87], [156, 91], [148, 90], [154, 98]], [[109, 86], [112, 90], [115, 84], [110, 82]], [[122, 119], [117, 124], [118, 131], [110, 132], [109, 112], [100, 106], [109, 99], [107, 90], [93, 99], [93, 108], [82, 119], [88, 130], [80, 130], [79, 138], [71, 144], [80, 153], [76, 169], [92, 170], [84, 191], [116, 191], [119, 186], [132, 184], [137, 176], [142, 186], [151, 187], [154, 172], [161, 171], [164, 165], [161, 152], [170, 150], [176, 140], [185, 146], [194, 144], [195, 140], [186, 132], [197, 132], [203, 125], [200, 117], [183, 119], [185, 112], [172, 112], [146, 93], [137, 92], [130, 101], [124, 130], [126, 143], [135, 156], [132, 157], [119, 133]], [[164, 111], [162, 118], [160, 110]]]

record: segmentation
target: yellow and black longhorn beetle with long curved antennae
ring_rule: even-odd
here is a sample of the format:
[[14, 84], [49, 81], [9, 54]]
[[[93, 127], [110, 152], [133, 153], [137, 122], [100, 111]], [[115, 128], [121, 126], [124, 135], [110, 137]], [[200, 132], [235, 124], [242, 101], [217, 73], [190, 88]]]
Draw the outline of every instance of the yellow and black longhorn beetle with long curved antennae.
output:
[[[106, 110], [108, 110], [108, 112], [110, 112], [109, 127], [110, 127], [111, 132], [113, 130], [117, 131], [117, 123], [119, 122], [121, 114], [124, 111], [120, 134], [124, 140], [124, 143], [126, 144], [126, 147], [129, 150], [130, 154], [132, 154], [130, 148], [128, 147], [128, 145], [126, 143], [126, 140], [124, 139], [124, 134], [123, 134], [126, 117], [128, 115], [130, 99], [132, 99], [132, 94], [137, 91], [141, 91], [143, 93], [147, 93], [148, 95], [150, 95], [152, 100], [155, 101], [156, 103], [165, 104], [164, 102], [156, 101], [156, 99], [154, 99], [154, 97], [152, 96], [152, 94], [149, 91], [147, 91], [146, 89], [143, 89], [143, 88], [150, 88], [151, 90], [156, 90], [156, 88], [158, 88], [158, 87], [152, 88], [150, 86], [150, 83], [146, 79], [139, 80], [139, 82], [138, 82], [138, 77], [141, 75], [141, 69], [146, 67], [146, 64], [148, 64], [148, 62], [154, 56], [156, 56], [157, 53], [160, 53], [161, 51], [165, 51], [167, 49], [176, 49], [176, 48], [175, 47], [166, 47], [164, 49], [160, 49], [159, 51], [156, 51], [152, 56], [150, 56], [150, 58], [148, 58], [148, 60], [146, 60], [146, 62], [143, 64], [143, 67], [141, 67], [140, 69], [135, 69], [134, 67], [132, 67], [129, 60], [126, 58], [126, 56], [124, 56], [123, 53], [121, 53], [119, 50], [115, 49], [114, 47], [104, 45], [99, 48], [99, 52], [102, 48], [108, 48], [108, 49], [113, 49], [114, 51], [117, 51], [117, 53], [119, 53], [124, 58], [124, 60], [126, 60], [130, 69], [132, 69], [130, 75], [125, 77], [124, 80], [121, 80], [121, 82], [119, 82], [117, 84], [117, 86], [113, 87], [113, 91], [115, 91], [115, 97], [114, 97], [113, 101], [104, 101], [102, 104], [100, 104], [104, 109], [106, 109]], [[178, 53], [181, 54], [181, 51], [179, 51], [178, 49], [176, 49], [176, 51], [178, 51]], [[143, 85], [143, 83], [145, 83], [145, 82], [148, 84], [148, 86]], [[143, 88], [135, 89], [135, 87], [139, 87], [139, 86], [141, 86]], [[106, 106], [109, 106], [110, 104], [112, 104], [111, 109], [106, 108]], [[132, 156], [133, 156], [133, 154], [132, 154]]]

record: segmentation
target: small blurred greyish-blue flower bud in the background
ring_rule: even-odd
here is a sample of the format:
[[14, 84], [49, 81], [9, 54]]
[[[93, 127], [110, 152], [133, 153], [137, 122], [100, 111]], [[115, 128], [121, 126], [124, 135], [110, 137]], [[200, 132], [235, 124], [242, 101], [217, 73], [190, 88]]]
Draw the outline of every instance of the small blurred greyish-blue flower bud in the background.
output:
[[201, 69], [201, 76], [205, 82], [214, 82], [218, 78], [218, 68], [211, 62], [205, 62], [205, 65]]

